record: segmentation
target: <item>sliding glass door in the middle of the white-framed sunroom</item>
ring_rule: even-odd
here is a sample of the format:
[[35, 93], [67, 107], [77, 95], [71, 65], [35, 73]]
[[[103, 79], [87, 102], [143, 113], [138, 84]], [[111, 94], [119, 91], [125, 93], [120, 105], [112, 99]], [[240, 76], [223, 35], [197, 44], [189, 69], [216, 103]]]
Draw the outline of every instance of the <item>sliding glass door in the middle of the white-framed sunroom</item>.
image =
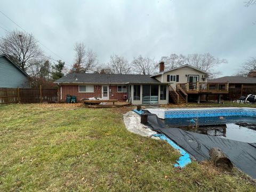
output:
[[158, 103], [158, 85], [142, 85], [142, 104]]

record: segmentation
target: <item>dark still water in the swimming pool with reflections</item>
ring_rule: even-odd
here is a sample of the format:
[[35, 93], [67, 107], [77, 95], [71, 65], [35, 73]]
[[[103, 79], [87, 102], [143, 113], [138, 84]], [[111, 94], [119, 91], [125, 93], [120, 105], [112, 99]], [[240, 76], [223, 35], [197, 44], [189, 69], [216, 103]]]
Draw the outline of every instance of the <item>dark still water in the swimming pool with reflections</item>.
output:
[[253, 116], [172, 118], [165, 119], [164, 123], [170, 128], [178, 127], [236, 141], [256, 142], [256, 117]]

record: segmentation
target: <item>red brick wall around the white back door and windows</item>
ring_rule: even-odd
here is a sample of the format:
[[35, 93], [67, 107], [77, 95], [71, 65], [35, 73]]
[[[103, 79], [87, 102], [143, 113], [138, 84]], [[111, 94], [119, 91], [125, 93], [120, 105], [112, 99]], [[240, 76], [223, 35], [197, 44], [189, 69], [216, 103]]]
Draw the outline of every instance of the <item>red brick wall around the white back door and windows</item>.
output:
[[[67, 94], [76, 95], [77, 101], [83, 98], [91, 98], [91, 97], [101, 98], [102, 97], [101, 85], [94, 85], [94, 93], [79, 93], [78, 85], [61, 85], [61, 86], [62, 86], [61, 101], [66, 100]], [[109, 89], [111, 89], [111, 93], [109, 93], [109, 99], [118, 99], [118, 101], [125, 101], [124, 95], [127, 95], [127, 93], [118, 93], [116, 85], [109, 86]]]

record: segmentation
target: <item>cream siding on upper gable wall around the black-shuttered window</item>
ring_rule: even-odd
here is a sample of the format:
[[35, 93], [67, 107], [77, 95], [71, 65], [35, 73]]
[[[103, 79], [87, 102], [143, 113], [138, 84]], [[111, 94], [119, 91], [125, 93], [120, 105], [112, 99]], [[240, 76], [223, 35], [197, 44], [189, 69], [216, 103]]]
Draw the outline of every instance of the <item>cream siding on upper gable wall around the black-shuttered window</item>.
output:
[[[179, 82], [167, 82], [167, 75], [179, 75]], [[202, 73], [201, 71], [195, 70], [190, 67], [183, 67], [179, 69], [175, 69], [169, 72], [164, 73], [163, 75], [159, 75], [156, 77], [156, 79], [162, 83], [169, 83], [173, 87], [175, 87], [176, 83], [187, 83], [188, 82], [188, 76], [186, 75], [198, 75], [199, 76], [199, 82], [206, 82], [206, 79], [202, 79], [202, 75], [206, 75], [205, 73]], [[163, 77], [162, 77], [163, 76]], [[163, 81], [162, 81], [163, 79]]]

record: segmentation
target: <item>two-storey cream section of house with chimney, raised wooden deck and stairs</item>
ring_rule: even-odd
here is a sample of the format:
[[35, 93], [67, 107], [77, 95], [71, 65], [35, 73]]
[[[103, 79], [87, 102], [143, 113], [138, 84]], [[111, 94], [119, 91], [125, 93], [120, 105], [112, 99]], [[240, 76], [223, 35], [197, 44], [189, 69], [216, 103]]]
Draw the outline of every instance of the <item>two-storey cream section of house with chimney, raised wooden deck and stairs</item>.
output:
[[193, 67], [191, 65], [182, 65], [174, 69], [164, 70], [164, 63], [159, 63], [159, 73], [151, 77], [161, 83], [168, 83], [170, 101], [174, 103], [188, 102], [188, 100], [197, 100], [204, 95], [206, 100], [208, 95], [218, 95], [220, 101], [221, 94], [227, 94], [227, 83], [215, 84], [208, 83], [209, 73]]

